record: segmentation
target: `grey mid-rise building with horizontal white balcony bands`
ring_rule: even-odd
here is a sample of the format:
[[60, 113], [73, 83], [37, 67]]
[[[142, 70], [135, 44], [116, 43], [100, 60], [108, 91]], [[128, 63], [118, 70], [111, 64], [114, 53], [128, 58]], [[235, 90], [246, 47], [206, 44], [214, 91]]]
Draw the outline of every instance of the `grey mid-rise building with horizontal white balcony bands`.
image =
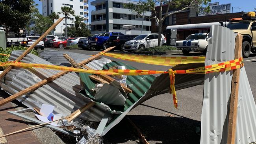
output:
[[[127, 3], [137, 4], [131, 0], [95, 0], [91, 2], [95, 10], [91, 11], [91, 33], [121, 32], [133, 35], [151, 33], [151, 19], [145, 18], [151, 15], [151, 11], [144, 14], [144, 18], [135, 15], [129, 9], [124, 8]], [[135, 26], [126, 30], [123, 25]]]

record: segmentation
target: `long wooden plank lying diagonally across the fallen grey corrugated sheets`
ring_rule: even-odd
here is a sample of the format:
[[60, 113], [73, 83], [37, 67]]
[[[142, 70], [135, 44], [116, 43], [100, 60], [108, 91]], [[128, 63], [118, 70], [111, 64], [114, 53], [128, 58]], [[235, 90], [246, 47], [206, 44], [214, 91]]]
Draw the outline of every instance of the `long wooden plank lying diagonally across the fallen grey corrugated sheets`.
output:
[[[111, 47], [111, 48], [108, 48], [106, 50], [104, 50], [104, 53], [105, 52], [108, 52], [109, 50], [115, 48], [115, 46]], [[102, 53], [102, 52], [101, 52]], [[87, 60], [84, 60], [83, 62], [79, 63], [79, 65], [82, 65], [82, 64], [86, 64], [86, 63], [89, 63], [90, 61], [92, 61], [92, 59], [95, 59], [97, 57], [99, 57], [100, 55], [94, 55], [92, 57], [90, 57], [89, 59]], [[56, 75], [53, 75], [53, 76], [50, 76], [49, 78], [46, 78], [46, 79], [43, 79], [42, 81], [39, 81], [38, 83], [36, 83], [35, 85], [32, 85], [31, 87], [28, 87], [24, 90], [21, 90], [20, 92], [17, 92], [16, 94], [13, 94], [11, 96], [9, 96], [8, 98], [5, 98], [4, 100], [1, 100], [0, 101], [0, 106], [8, 103], [8, 102], [11, 102], [12, 100], [15, 100], [16, 98], [19, 98], [20, 96], [24, 95], [24, 94], [27, 94], [28, 92], [31, 92], [39, 87], [42, 87], [43, 85], [45, 85], [46, 83], [49, 83], [50, 81], [53, 81], [54, 79], [57, 79], [65, 74], [69, 73], [68, 71], [63, 71], [63, 72], [59, 72], [58, 74]]]

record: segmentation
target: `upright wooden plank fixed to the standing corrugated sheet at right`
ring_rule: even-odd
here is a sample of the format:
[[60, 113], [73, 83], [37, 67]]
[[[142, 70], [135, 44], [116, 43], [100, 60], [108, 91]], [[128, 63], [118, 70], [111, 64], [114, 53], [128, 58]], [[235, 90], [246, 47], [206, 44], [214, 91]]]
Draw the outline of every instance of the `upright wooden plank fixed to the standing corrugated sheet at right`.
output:
[[[241, 57], [243, 37], [240, 33], [236, 36], [235, 59]], [[236, 119], [237, 119], [237, 103], [239, 90], [240, 68], [233, 70], [230, 95], [230, 111], [228, 118], [228, 140], [227, 144], [235, 144], [236, 142]]]

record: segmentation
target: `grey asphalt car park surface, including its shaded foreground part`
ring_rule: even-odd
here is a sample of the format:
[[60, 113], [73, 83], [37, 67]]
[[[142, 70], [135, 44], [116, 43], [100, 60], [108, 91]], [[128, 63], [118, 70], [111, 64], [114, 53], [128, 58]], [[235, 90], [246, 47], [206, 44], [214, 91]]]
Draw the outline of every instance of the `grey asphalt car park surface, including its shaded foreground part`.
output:
[[[48, 49], [48, 48], [46, 48]], [[49, 48], [52, 49], [52, 48]], [[53, 50], [53, 49], [52, 49]], [[63, 50], [79, 54], [93, 55], [100, 51], [92, 50]], [[189, 56], [200, 56], [202, 53], [193, 53]], [[168, 55], [182, 56], [182, 55]], [[104, 56], [105, 57], [105, 56]], [[135, 68], [143, 70], [168, 70], [168, 66], [148, 65], [123, 61], [112, 57], [111, 60], [122, 61]], [[254, 100], [256, 98], [256, 54], [251, 54], [244, 59], [245, 69], [249, 78], [250, 87]], [[177, 90], [178, 109], [173, 107], [173, 100], [170, 94], [155, 96], [133, 109], [128, 117], [139, 127], [141, 133], [150, 144], [198, 144], [200, 143], [200, 117], [202, 111], [203, 85], [197, 85], [187, 89]], [[168, 117], [166, 113], [173, 115]], [[113, 127], [104, 137], [105, 144], [137, 144], [139, 137], [129, 124], [128, 120], [122, 120]]]

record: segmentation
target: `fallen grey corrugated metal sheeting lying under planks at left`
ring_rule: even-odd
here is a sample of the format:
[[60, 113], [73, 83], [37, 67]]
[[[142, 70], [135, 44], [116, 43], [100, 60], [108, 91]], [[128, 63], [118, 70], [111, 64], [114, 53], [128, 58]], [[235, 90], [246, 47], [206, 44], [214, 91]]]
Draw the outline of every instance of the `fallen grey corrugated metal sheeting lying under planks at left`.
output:
[[[23, 51], [13, 51], [9, 60], [13, 61], [17, 59], [17, 57], [22, 53]], [[26, 55], [21, 62], [51, 65], [51, 63], [33, 54]], [[41, 81], [35, 73], [40, 73], [45, 77], [50, 77], [58, 72], [60, 71], [43, 68], [30, 68], [29, 70], [13, 68], [6, 74], [4, 79], [1, 80], [1, 87], [9, 94], [15, 94], [20, 90], [26, 89], [27, 87]], [[70, 72], [47, 85], [43, 85], [37, 90], [18, 98], [17, 100], [30, 108], [40, 107], [42, 104], [51, 104], [56, 107], [56, 109], [54, 109], [55, 113], [63, 113], [64, 116], [67, 116], [79, 107], [82, 107], [91, 101], [89, 98], [85, 98], [79, 94], [79, 91], [80, 81], [78, 74]], [[100, 121], [105, 112], [106, 108], [104, 106], [95, 105], [89, 109], [89, 111], [83, 113], [81, 118], [90, 121]]]

